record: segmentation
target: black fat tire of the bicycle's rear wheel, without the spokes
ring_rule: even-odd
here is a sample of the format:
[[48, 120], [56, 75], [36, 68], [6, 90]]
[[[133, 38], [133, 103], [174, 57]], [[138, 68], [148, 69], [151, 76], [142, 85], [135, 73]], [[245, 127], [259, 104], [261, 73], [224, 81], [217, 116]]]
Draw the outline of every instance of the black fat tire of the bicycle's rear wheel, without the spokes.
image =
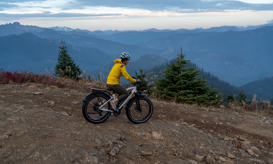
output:
[[[93, 119], [91, 117], [89, 117], [88, 115], [88, 109], [93, 109], [93, 106], [94, 104], [90, 103], [93, 99], [97, 99], [98, 97], [101, 97], [101, 98], [104, 98], [105, 100], [109, 100], [111, 99], [111, 97], [106, 94], [106, 93], [99, 93], [97, 92], [96, 94], [93, 93], [93, 94], [90, 94], [89, 96], [87, 96], [85, 98], [85, 101], [83, 102], [82, 104], [82, 115], [83, 117], [88, 121], [88, 122], [91, 122], [93, 124], [100, 124], [102, 122], [104, 122], [105, 120], [107, 120], [109, 118], [109, 116], [111, 115], [111, 112], [106, 112], [104, 116], [102, 116], [101, 118], [99, 119]], [[109, 103], [109, 102], [108, 102]], [[88, 105], [92, 106], [92, 107], [88, 107]], [[108, 106], [110, 106], [110, 103], [108, 104]], [[110, 110], [110, 109], [109, 109]], [[89, 111], [90, 112], [90, 111]], [[93, 111], [94, 112], [94, 111]]]

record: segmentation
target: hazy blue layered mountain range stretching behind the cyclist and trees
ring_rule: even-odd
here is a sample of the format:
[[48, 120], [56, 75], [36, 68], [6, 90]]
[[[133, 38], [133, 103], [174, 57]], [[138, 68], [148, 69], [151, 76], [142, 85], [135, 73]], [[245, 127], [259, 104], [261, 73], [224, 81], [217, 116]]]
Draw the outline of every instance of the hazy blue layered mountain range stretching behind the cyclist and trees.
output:
[[242, 86], [273, 75], [272, 25], [88, 31], [14, 22], [0, 25], [0, 67], [33, 72], [39, 67], [54, 68], [62, 39], [75, 62], [91, 75], [107, 75], [112, 61], [124, 51], [132, 57], [126, 68], [134, 72], [133, 69], [150, 69], [175, 58], [182, 47], [187, 60], [232, 85]]

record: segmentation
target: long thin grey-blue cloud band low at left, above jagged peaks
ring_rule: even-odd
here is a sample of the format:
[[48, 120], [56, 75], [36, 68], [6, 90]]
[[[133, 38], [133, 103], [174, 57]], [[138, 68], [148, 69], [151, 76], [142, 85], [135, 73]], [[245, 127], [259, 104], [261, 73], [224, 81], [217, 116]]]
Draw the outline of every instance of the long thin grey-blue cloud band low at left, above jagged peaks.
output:
[[71, 17], [98, 17], [98, 16], [119, 16], [122, 14], [82, 14], [82, 13], [56, 13], [52, 14], [49, 11], [33, 14], [7, 14], [0, 13], [3, 18], [71, 18]]

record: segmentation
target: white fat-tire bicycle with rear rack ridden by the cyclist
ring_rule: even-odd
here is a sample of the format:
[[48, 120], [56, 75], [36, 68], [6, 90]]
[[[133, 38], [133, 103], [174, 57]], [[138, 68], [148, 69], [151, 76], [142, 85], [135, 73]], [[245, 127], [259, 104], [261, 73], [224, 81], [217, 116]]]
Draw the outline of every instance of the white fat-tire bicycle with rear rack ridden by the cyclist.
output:
[[142, 94], [142, 91], [137, 92], [135, 83], [133, 85], [127, 89], [127, 91], [132, 90], [129, 92], [129, 96], [117, 102], [116, 111], [110, 105], [110, 100], [115, 100], [115, 92], [111, 88], [107, 87], [107, 90], [113, 91], [113, 95], [106, 90], [90, 88], [92, 94], [86, 96], [82, 104], [84, 118], [93, 124], [100, 124], [107, 120], [111, 113], [114, 116], [119, 116], [123, 105], [135, 94], [125, 105], [127, 118], [134, 124], [141, 124], [149, 120], [154, 110], [153, 103], [146, 95]]

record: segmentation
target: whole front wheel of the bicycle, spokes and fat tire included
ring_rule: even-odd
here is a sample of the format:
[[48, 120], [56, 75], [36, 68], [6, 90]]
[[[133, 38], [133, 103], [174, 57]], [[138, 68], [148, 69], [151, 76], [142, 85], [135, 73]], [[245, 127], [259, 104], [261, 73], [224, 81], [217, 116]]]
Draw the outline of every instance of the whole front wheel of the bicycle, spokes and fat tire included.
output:
[[153, 114], [154, 106], [148, 97], [133, 97], [126, 104], [127, 118], [134, 124], [141, 124], [149, 120]]

